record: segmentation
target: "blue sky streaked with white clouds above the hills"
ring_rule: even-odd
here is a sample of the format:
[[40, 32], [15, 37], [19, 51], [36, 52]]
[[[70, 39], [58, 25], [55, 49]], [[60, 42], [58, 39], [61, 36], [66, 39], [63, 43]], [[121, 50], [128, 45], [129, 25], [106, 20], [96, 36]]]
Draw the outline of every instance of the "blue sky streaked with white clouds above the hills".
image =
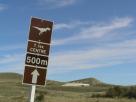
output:
[[0, 72], [23, 73], [31, 17], [54, 21], [48, 79], [136, 84], [135, 0], [0, 0]]

